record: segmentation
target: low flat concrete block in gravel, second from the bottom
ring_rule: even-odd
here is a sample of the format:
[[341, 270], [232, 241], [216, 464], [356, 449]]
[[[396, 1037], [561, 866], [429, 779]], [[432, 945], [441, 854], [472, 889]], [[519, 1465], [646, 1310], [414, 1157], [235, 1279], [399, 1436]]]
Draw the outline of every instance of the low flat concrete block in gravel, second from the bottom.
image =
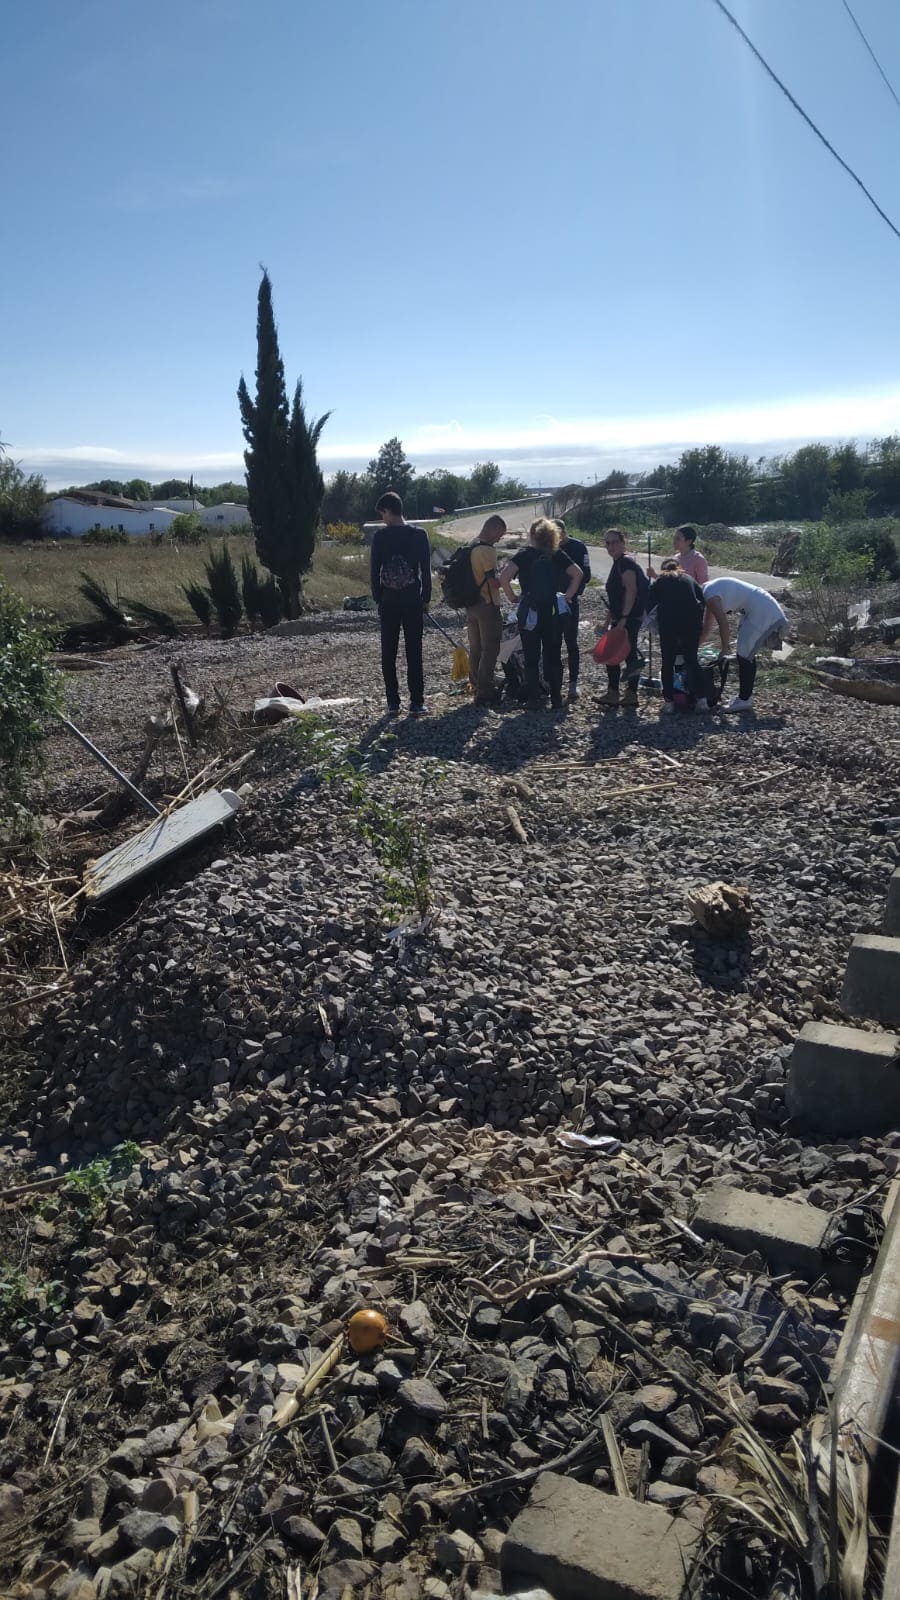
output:
[[701, 1197], [690, 1226], [703, 1238], [721, 1238], [741, 1254], [757, 1250], [772, 1266], [791, 1267], [812, 1278], [822, 1272], [830, 1222], [828, 1211], [814, 1205], [716, 1184]]

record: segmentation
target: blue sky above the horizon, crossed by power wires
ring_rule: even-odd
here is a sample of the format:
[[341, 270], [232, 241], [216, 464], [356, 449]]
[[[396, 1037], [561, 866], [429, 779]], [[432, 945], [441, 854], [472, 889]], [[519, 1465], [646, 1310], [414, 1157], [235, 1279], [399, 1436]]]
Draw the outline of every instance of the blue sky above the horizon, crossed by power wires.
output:
[[[841, 0], [732, 8], [900, 226]], [[3, 53], [0, 432], [51, 485], [240, 475], [259, 262], [327, 470], [900, 429], [900, 240], [711, 0], [42, 0]]]

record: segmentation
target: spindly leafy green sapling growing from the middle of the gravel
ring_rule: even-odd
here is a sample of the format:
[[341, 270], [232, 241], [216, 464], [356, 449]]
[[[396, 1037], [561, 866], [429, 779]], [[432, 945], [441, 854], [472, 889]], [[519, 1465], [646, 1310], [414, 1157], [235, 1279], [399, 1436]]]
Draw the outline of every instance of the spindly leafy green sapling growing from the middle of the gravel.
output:
[[298, 717], [293, 736], [317, 778], [340, 786], [356, 813], [360, 835], [381, 866], [384, 917], [394, 920], [397, 915], [418, 912], [423, 920], [432, 902], [424, 829], [418, 818], [392, 800], [380, 800], [370, 786], [392, 734], [383, 734], [367, 750], [360, 750], [314, 712], [306, 712]]

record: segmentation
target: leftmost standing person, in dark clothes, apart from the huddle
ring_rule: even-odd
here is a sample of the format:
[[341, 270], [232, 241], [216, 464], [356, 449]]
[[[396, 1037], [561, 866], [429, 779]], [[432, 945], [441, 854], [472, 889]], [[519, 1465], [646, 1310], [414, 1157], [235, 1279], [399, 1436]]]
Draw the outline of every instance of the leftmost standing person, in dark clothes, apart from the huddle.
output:
[[388, 696], [388, 715], [400, 715], [397, 683], [397, 648], [400, 632], [407, 653], [407, 686], [410, 715], [424, 715], [424, 666], [421, 635], [424, 613], [431, 602], [431, 544], [424, 528], [404, 520], [404, 502], [394, 490], [381, 496], [376, 507], [383, 528], [375, 530], [370, 558], [372, 598], [381, 622], [381, 675]]

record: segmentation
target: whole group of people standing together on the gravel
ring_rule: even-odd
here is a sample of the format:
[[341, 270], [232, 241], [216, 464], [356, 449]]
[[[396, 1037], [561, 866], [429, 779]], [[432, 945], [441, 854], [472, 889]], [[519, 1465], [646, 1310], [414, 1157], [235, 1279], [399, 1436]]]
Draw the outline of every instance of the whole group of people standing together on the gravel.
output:
[[[381, 670], [388, 714], [400, 712], [397, 650], [404, 634], [410, 714], [424, 714], [423, 626], [431, 605], [431, 547], [423, 528], [404, 520], [400, 496], [394, 491], [378, 501], [383, 526], [372, 542], [372, 595], [381, 619]], [[591, 579], [591, 558], [581, 539], [570, 538], [562, 518], [540, 517], [528, 530], [528, 542], [501, 568], [496, 546], [506, 534], [503, 517], [485, 520], [477, 541], [466, 547], [469, 590], [466, 632], [469, 678], [476, 706], [500, 698], [495, 674], [503, 638], [503, 602], [512, 608], [522, 648], [524, 698], [541, 709], [549, 696], [562, 706], [562, 685], [569, 672], [569, 701], [578, 699], [580, 677], [580, 598]], [[706, 558], [697, 549], [697, 530], [676, 528], [674, 555], [660, 571], [645, 573], [628, 552], [621, 528], [607, 528], [604, 544], [610, 557], [605, 582], [607, 632], [613, 635], [613, 659], [607, 666], [607, 709], [637, 706], [637, 685], [644, 656], [637, 648], [647, 622], [660, 638], [663, 714], [674, 710], [676, 693], [682, 704], [698, 712], [711, 709], [700, 650], [719, 630], [721, 656], [730, 650], [729, 616], [740, 614], [737, 632], [738, 693], [730, 710], [751, 710], [759, 651], [780, 643], [788, 618], [765, 589], [737, 578], [709, 581]], [[516, 584], [516, 589], [512, 587]], [[623, 635], [615, 640], [615, 635]], [[564, 667], [565, 651], [565, 667]], [[681, 661], [681, 688], [676, 672]]]

